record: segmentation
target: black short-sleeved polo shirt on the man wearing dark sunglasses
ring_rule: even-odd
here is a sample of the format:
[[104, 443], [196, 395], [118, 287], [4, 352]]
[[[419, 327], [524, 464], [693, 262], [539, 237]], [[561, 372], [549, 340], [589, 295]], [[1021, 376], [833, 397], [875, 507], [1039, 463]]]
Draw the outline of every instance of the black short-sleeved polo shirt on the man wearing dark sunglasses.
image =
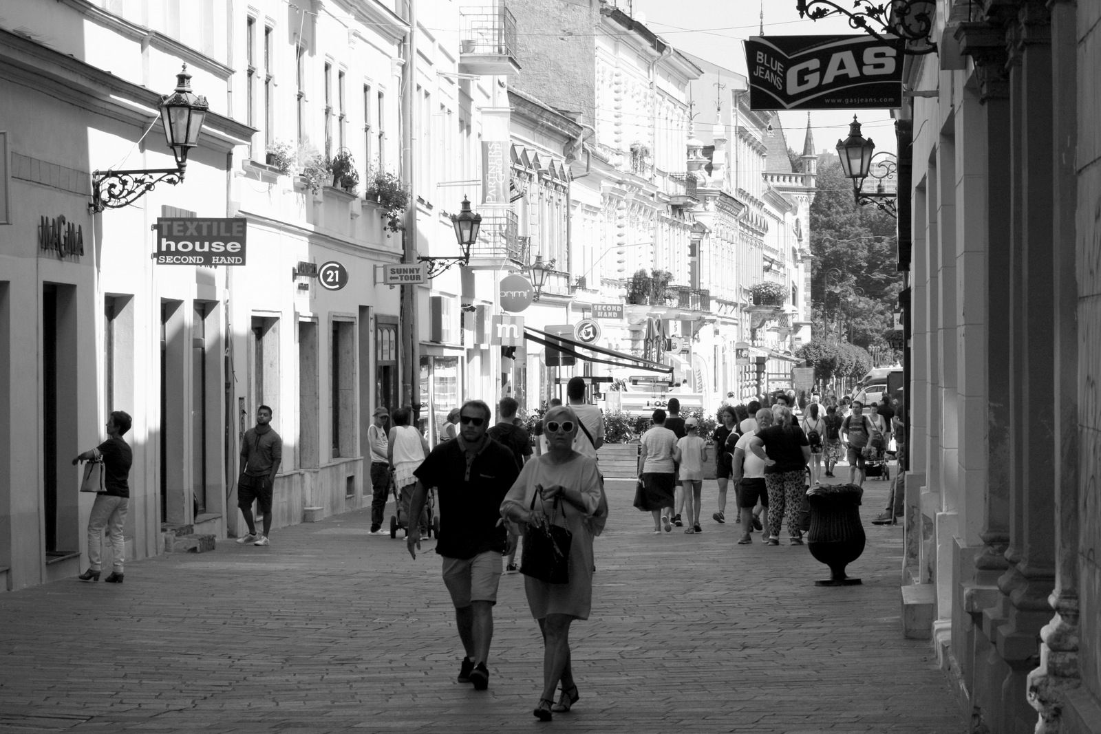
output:
[[504, 446], [489, 439], [467, 463], [461, 438], [438, 445], [413, 474], [439, 499], [439, 543], [447, 558], [473, 558], [503, 551], [508, 535], [501, 502], [520, 475], [516, 460]]

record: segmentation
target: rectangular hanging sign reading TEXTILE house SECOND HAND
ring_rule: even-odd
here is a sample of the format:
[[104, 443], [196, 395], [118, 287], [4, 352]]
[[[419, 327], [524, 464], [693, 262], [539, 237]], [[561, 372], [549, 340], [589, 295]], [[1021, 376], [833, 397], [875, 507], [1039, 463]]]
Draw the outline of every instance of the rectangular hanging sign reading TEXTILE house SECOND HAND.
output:
[[164, 218], [156, 220], [157, 265], [243, 265], [248, 220]]

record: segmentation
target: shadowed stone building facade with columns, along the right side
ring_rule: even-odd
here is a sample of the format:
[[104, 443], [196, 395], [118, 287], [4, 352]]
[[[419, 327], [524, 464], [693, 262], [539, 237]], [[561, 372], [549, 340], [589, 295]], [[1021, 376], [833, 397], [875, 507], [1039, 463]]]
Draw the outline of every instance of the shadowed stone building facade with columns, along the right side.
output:
[[972, 731], [1101, 731], [1098, 21], [941, 2], [907, 59], [903, 606]]

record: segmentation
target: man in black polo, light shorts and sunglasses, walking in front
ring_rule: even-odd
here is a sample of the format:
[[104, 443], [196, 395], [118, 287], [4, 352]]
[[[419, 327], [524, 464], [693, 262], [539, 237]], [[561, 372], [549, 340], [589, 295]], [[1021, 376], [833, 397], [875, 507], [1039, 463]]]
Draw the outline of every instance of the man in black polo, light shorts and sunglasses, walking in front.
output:
[[[489, 645], [493, 638], [493, 604], [501, 580], [501, 554], [509, 536], [501, 523], [501, 502], [520, 475], [516, 460], [504, 446], [486, 435], [492, 413], [482, 401], [467, 401], [459, 409], [459, 435], [439, 443], [419, 468], [410, 500], [410, 517], [419, 517], [428, 487], [439, 497], [436, 554], [444, 559], [444, 583], [455, 604], [455, 621], [466, 657], [459, 682], [479, 691], [489, 686]], [[410, 555], [421, 548], [421, 529], [410, 524], [405, 537]]]

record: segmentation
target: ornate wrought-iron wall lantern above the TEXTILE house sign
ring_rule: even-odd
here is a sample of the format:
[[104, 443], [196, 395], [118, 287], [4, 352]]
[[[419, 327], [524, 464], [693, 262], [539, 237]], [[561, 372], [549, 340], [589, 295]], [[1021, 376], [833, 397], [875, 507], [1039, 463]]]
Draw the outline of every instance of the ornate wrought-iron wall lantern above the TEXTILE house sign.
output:
[[187, 154], [198, 145], [199, 131], [210, 106], [206, 97], [192, 91], [192, 75], [187, 64], [176, 75], [176, 90], [161, 98], [161, 124], [164, 138], [176, 158], [175, 168], [142, 168], [132, 171], [94, 171], [91, 201], [88, 210], [98, 213], [133, 204], [164, 182], [173, 186], [184, 179]]

